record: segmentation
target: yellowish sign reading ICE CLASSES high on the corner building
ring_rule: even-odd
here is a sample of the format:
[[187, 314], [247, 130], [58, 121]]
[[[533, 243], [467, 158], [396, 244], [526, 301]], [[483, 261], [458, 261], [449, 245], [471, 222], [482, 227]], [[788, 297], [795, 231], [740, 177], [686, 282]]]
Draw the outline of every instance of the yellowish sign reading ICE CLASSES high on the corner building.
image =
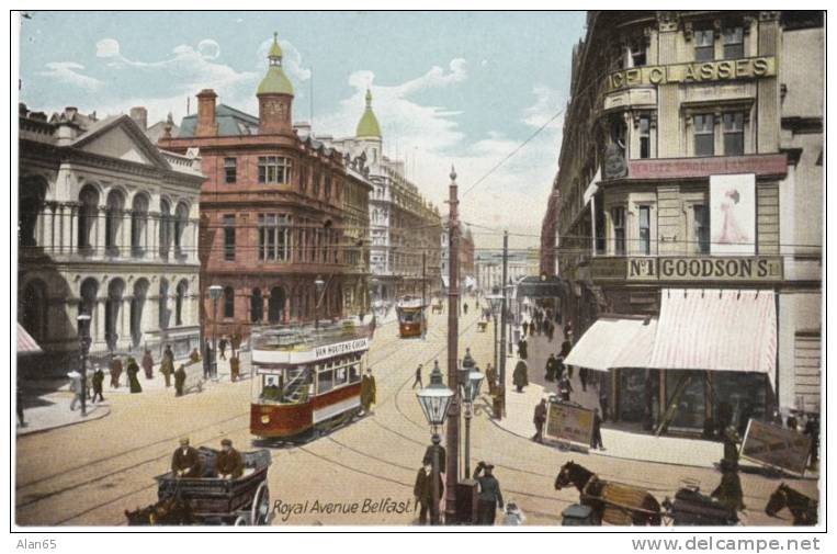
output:
[[776, 58], [758, 57], [634, 67], [608, 77], [608, 91], [647, 84], [755, 79], [776, 75]]

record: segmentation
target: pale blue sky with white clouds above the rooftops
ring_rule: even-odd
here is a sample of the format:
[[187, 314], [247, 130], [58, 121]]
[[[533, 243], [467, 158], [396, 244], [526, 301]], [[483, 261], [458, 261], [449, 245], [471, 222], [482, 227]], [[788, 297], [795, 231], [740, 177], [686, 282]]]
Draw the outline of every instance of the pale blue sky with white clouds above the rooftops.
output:
[[186, 99], [194, 113], [194, 95], [212, 88], [258, 115], [276, 32], [295, 121], [352, 136], [371, 88], [384, 152], [443, 213], [455, 166], [477, 248], [501, 241], [483, 227], [519, 235], [512, 248], [538, 246], [584, 24], [584, 12], [29, 12], [20, 95], [47, 113], [143, 105], [151, 124], [169, 112], [179, 123]]

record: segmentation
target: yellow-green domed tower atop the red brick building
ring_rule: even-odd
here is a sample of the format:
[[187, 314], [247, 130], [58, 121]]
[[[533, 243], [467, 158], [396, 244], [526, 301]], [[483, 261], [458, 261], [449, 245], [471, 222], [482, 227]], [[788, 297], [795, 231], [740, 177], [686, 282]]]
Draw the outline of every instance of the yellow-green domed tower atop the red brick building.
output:
[[256, 95], [259, 99], [259, 133], [262, 135], [293, 135], [291, 109], [294, 87], [282, 69], [282, 48], [278, 34], [268, 53], [268, 75], [261, 80]]

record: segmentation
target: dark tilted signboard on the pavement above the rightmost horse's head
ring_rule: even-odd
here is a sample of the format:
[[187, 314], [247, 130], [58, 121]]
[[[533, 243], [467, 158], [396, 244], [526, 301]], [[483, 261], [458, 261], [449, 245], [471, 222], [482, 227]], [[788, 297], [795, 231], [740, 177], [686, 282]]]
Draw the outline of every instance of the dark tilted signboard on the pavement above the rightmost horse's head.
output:
[[811, 438], [793, 429], [750, 419], [740, 454], [802, 475], [811, 454]]

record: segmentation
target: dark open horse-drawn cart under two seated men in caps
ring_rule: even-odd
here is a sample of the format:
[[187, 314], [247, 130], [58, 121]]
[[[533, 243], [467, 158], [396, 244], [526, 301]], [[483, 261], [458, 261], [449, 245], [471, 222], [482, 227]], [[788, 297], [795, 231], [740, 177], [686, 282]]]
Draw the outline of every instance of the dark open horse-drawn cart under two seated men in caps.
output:
[[158, 475], [158, 502], [134, 512], [125, 511], [135, 525], [264, 525], [270, 517], [268, 468], [270, 451], [244, 452], [244, 475], [236, 479], [216, 477], [217, 452], [200, 448], [203, 475], [200, 478], [176, 477], [171, 472]]

